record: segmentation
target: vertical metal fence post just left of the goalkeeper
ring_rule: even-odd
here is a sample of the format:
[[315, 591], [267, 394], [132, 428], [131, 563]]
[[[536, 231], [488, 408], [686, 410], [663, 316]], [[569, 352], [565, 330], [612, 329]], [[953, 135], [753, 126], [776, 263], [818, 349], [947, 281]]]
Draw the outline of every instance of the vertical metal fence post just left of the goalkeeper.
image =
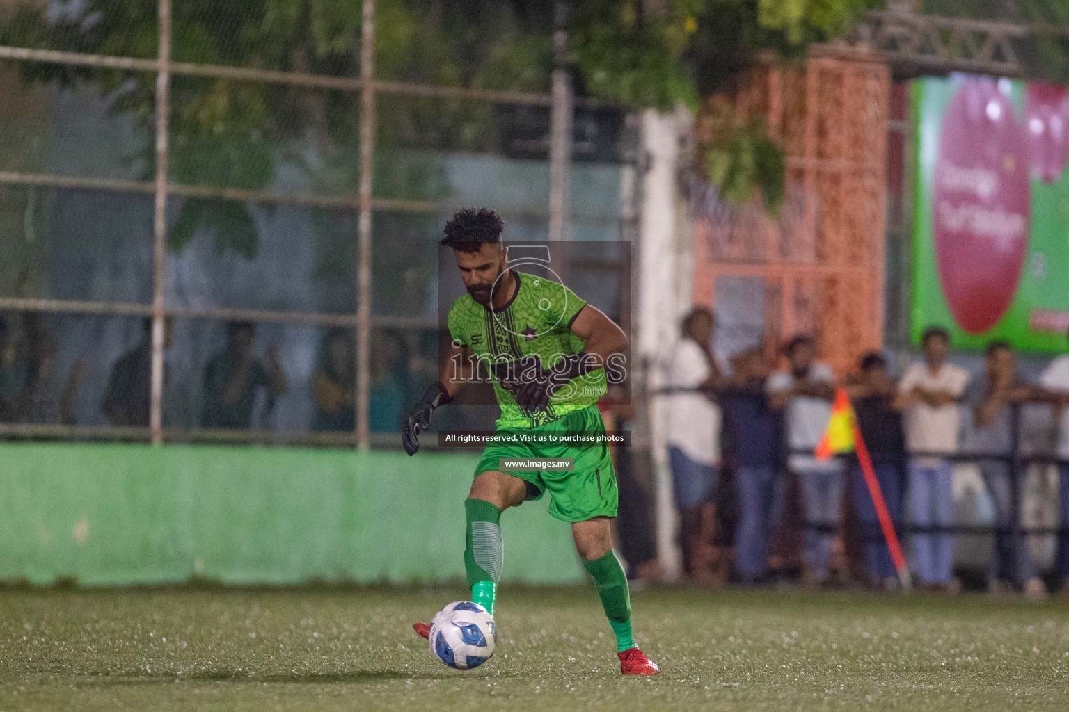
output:
[[360, 184], [356, 271], [356, 445], [370, 443], [371, 178], [375, 160], [375, 0], [363, 0], [360, 26]]

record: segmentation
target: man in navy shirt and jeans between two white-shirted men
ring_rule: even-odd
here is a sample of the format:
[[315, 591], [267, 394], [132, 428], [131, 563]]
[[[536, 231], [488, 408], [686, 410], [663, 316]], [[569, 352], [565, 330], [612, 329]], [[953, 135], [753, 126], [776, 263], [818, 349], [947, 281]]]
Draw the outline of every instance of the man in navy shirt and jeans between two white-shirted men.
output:
[[739, 493], [735, 570], [744, 584], [765, 576], [769, 529], [781, 503], [776, 480], [783, 462], [783, 417], [769, 401], [768, 376], [761, 350], [749, 349], [734, 360], [732, 382], [721, 393], [725, 444]]

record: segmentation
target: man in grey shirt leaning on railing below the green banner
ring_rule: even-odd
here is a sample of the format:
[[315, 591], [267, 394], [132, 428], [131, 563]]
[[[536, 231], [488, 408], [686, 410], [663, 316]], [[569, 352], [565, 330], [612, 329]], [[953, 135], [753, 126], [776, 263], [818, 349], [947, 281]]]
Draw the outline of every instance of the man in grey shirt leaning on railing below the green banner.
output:
[[[964, 402], [971, 411], [971, 426], [965, 436], [965, 452], [1000, 458], [1013, 456], [1013, 431], [1018, 427], [1021, 404], [1033, 399], [1035, 389], [1017, 371], [1017, 361], [1009, 342], [997, 341], [985, 351], [985, 377], [974, 379], [965, 391]], [[1020, 508], [1013, 496], [1017, 482], [1006, 460], [977, 461], [983, 484], [995, 507], [995, 550], [988, 570], [988, 590], [998, 594], [1007, 584], [1020, 587], [1031, 598], [1042, 597], [1047, 587], [1039, 579], [1028, 554], [1027, 539], [1014, 536]]]

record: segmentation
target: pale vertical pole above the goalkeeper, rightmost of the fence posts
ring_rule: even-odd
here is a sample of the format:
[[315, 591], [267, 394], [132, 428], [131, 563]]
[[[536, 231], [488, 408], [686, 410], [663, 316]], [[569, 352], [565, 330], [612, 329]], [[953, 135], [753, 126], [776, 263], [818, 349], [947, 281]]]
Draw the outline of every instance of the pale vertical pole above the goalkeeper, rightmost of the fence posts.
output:
[[572, 162], [572, 77], [568, 57], [568, 0], [557, 0], [553, 18], [553, 75], [549, 107], [549, 240], [568, 237], [569, 174]]

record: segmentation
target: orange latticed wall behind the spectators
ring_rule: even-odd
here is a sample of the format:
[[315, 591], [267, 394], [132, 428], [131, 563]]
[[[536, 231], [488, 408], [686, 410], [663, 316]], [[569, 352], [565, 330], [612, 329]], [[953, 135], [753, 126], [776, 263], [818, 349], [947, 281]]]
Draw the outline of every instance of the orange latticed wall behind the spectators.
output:
[[864, 54], [757, 67], [734, 105], [781, 141], [784, 206], [775, 218], [758, 205], [695, 206], [695, 303], [715, 307], [718, 279], [759, 278], [769, 343], [811, 333], [840, 376], [883, 342], [889, 91], [887, 66]]

